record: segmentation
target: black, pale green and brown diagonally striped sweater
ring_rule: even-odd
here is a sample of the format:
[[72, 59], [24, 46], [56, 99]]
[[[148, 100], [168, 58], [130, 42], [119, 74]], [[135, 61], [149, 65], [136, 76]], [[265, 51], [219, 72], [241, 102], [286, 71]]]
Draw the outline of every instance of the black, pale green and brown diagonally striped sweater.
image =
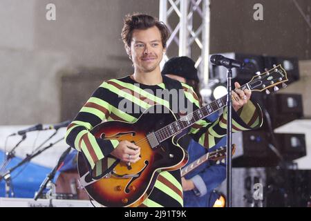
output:
[[[165, 78], [163, 77], [163, 80]], [[157, 96], [157, 90], [168, 88], [167, 84], [170, 81], [164, 82], [166, 83], [148, 86], [138, 84], [130, 76], [104, 81], [68, 126], [66, 143], [77, 151], [82, 151], [91, 165], [91, 169], [95, 169], [97, 162], [100, 164], [100, 160], [117, 147], [118, 141], [98, 139], [89, 131], [102, 121], [135, 122], [143, 111], [154, 104], [162, 104], [169, 108], [170, 103], [167, 99]], [[195, 111], [200, 106], [198, 97], [190, 86], [181, 84], [184, 89], [184, 99], [192, 105], [192, 111]], [[133, 105], [126, 106], [126, 109], [120, 108], [120, 104], [124, 100], [126, 104]], [[226, 113], [227, 108], [224, 108], [223, 115], [220, 115], [215, 122], [200, 119], [191, 126], [188, 134], [202, 146], [211, 148], [227, 133]], [[233, 111], [232, 124], [233, 132], [258, 128], [262, 124], [260, 108], [254, 106], [250, 101], [247, 102], [238, 112]], [[141, 206], [183, 206], [180, 170], [160, 173], [149, 198], [144, 200]]]

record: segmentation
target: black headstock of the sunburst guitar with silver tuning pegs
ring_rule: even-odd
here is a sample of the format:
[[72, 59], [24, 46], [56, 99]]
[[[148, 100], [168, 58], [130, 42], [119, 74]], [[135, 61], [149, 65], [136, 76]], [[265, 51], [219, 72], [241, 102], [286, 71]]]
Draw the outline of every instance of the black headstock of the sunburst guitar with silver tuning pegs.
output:
[[285, 81], [288, 81], [288, 74], [284, 68], [279, 64], [274, 66], [274, 68], [267, 70], [265, 73], [256, 73], [247, 84], [252, 91], [263, 91], [266, 90], [266, 93], [269, 94], [268, 88], [274, 87], [274, 91], [279, 90], [277, 87], [278, 84], [282, 84], [282, 87], [285, 88]]

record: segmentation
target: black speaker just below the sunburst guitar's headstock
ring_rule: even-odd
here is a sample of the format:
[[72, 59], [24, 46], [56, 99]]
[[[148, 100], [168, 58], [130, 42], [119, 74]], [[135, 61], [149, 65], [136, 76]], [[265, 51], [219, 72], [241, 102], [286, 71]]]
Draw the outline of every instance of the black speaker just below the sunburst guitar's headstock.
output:
[[[272, 128], [303, 117], [302, 96], [299, 94], [270, 94], [263, 104], [263, 108], [266, 108], [270, 115]], [[263, 126], [267, 128], [267, 120], [264, 122]]]

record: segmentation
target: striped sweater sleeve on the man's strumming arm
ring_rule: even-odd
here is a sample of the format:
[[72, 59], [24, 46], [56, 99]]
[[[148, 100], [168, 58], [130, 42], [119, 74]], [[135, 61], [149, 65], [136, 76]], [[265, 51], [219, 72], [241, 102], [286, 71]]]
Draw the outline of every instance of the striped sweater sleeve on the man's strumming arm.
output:
[[108, 84], [104, 82], [84, 104], [66, 131], [66, 143], [84, 153], [91, 169], [94, 169], [95, 164], [109, 155], [119, 143], [117, 140], [96, 138], [90, 133], [94, 126], [109, 118], [114, 108], [106, 102], [107, 97], [109, 89]]

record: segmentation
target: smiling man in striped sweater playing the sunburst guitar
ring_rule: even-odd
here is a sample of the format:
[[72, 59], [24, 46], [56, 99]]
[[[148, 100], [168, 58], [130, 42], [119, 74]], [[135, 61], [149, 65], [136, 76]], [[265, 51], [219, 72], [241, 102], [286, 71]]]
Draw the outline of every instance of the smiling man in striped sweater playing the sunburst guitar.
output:
[[[162, 106], [172, 109], [173, 104], [180, 102], [180, 99], [185, 99], [188, 104], [187, 108], [191, 109], [191, 111], [200, 107], [198, 97], [190, 86], [177, 83], [177, 81], [161, 75], [160, 61], [166, 50], [168, 38], [169, 30], [167, 26], [154, 17], [134, 14], [127, 16], [124, 20], [122, 39], [126, 52], [133, 62], [133, 74], [120, 79], [104, 81], [68, 126], [65, 137], [68, 145], [83, 153], [93, 177], [102, 173], [101, 169], [104, 159], [109, 155], [120, 160], [123, 165], [126, 164], [129, 175], [131, 174], [132, 166], [134, 169], [135, 165], [143, 163], [144, 150], [140, 146], [140, 142], [131, 142], [131, 140], [120, 141], [117, 138], [105, 140], [101, 137], [96, 137], [90, 132], [103, 120], [108, 122], [135, 122], [152, 105], [162, 104]], [[163, 97], [158, 96], [158, 90], [174, 88], [177, 84], [183, 89], [183, 97], [177, 96], [167, 101]], [[236, 90], [232, 91], [234, 97], [234, 111], [232, 113], [233, 131], [258, 128], [262, 123], [260, 108], [249, 101], [251, 91], [247, 89], [241, 90], [239, 87], [240, 85], [236, 84]], [[178, 106], [177, 111], [173, 110], [173, 113], [177, 117], [178, 115], [187, 114], [182, 113], [180, 106]], [[224, 114], [218, 117], [215, 122], [209, 122], [207, 119], [198, 120], [191, 125], [187, 133], [196, 142], [205, 146], [205, 148], [214, 146], [226, 135], [226, 113], [227, 108], [224, 109]], [[161, 113], [156, 112], [156, 114], [160, 115]], [[185, 124], [187, 122], [189, 123], [188, 119]], [[141, 126], [148, 126], [148, 124], [151, 124], [151, 122], [144, 122]], [[132, 135], [135, 135], [136, 132], [138, 133], [138, 131], [133, 131]], [[156, 140], [155, 142], [158, 141]], [[149, 140], [149, 143], [151, 143], [151, 140]], [[165, 149], [162, 148], [162, 151], [165, 152]], [[161, 156], [155, 155], [153, 160], [157, 160], [157, 157]], [[173, 159], [175, 156], [169, 154], [169, 157]], [[144, 162], [147, 161], [144, 160]], [[156, 164], [156, 161], [154, 162]], [[151, 165], [146, 164], [145, 166]], [[124, 167], [126, 168], [126, 166], [122, 168]], [[148, 194], [147, 192], [144, 193], [145, 197], [142, 198], [142, 201], [139, 203], [133, 202], [131, 206], [183, 206], [180, 169], [160, 170], [158, 173], [155, 176], [156, 179], [152, 182], [153, 188], [150, 189]], [[142, 174], [140, 175], [143, 176]], [[116, 186], [115, 189], [115, 191], [120, 191], [122, 186]], [[132, 186], [129, 188], [129, 191], [138, 191], [138, 189]], [[129, 192], [126, 192], [126, 194], [129, 194]], [[124, 206], [130, 206], [127, 204], [128, 202], [129, 198], [124, 197], [121, 204], [124, 203]], [[111, 205], [118, 206], [119, 204]]]

